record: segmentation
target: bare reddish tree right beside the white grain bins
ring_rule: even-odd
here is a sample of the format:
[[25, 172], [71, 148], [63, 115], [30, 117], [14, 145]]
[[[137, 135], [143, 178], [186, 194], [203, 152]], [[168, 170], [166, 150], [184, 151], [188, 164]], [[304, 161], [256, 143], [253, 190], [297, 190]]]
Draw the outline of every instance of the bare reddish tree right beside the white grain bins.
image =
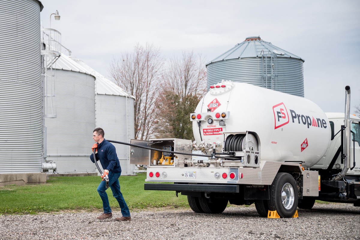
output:
[[114, 82], [135, 97], [135, 138], [149, 139], [154, 134], [155, 101], [163, 62], [153, 45], [137, 44], [134, 53], [113, 59], [110, 73]]

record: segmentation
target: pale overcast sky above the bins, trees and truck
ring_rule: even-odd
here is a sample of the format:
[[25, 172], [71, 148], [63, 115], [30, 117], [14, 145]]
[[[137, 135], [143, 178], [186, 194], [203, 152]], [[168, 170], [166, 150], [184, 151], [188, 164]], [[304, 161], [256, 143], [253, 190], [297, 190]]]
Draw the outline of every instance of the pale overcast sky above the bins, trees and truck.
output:
[[351, 87], [351, 114], [360, 104], [360, 1], [41, 0], [41, 21], [60, 21], [72, 55], [109, 77], [113, 57], [136, 43], [153, 44], [164, 58], [181, 51], [210, 62], [249, 36], [260, 36], [305, 60], [305, 98], [325, 112], [344, 112]]

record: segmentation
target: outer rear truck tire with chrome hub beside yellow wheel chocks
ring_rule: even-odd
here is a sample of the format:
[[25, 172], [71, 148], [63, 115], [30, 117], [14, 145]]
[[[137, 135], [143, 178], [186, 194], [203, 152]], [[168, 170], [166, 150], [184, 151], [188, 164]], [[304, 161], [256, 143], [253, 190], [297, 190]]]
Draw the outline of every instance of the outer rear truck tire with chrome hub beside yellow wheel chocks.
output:
[[280, 217], [291, 218], [297, 208], [298, 192], [296, 181], [289, 173], [278, 173], [270, 186], [269, 210]]

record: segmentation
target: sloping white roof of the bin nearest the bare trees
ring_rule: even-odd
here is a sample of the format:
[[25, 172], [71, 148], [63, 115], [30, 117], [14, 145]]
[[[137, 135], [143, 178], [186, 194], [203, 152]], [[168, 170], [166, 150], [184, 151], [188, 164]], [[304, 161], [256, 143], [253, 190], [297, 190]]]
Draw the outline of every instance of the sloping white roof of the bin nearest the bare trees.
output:
[[92, 75], [96, 77], [95, 81], [95, 93], [96, 94], [104, 94], [104, 95], [116, 95], [116, 96], [126, 96], [135, 98], [130, 93], [126, 92], [120, 86], [116, 85], [103, 75], [99, 74], [99, 72], [96, 72], [93, 68], [85, 64], [80, 59], [77, 59], [75, 57], [70, 57], [75, 61], [78, 65], [80, 65], [82, 68], [86, 69], [87, 72], [91, 72]]

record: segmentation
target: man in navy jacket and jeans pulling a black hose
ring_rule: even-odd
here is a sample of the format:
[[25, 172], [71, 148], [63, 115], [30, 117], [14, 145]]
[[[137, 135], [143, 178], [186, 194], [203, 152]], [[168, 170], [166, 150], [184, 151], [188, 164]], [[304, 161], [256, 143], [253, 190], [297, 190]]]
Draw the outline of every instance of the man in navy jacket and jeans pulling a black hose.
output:
[[[95, 149], [96, 161], [100, 160], [101, 166], [104, 169], [104, 174], [101, 176], [101, 178], [103, 178], [103, 181], [100, 182], [98, 187], [99, 195], [101, 197], [101, 200], [103, 200], [104, 213], [97, 218], [112, 218], [109, 199], [108, 195], [106, 194], [106, 182], [104, 181], [104, 177], [108, 176], [109, 187], [111, 188], [113, 196], [118, 201], [122, 213], [122, 217], [115, 218], [115, 220], [130, 221], [130, 211], [120, 191], [120, 183], [118, 178], [121, 175], [121, 166], [116, 154], [115, 147], [110, 142], [106, 141], [106, 139], [104, 138], [104, 130], [102, 128], [96, 128], [94, 130], [93, 139], [95, 141], [95, 144], [91, 149]], [[94, 154], [91, 154], [90, 159], [91, 161], [93, 161], [93, 163], [95, 163], [93, 155]]]

